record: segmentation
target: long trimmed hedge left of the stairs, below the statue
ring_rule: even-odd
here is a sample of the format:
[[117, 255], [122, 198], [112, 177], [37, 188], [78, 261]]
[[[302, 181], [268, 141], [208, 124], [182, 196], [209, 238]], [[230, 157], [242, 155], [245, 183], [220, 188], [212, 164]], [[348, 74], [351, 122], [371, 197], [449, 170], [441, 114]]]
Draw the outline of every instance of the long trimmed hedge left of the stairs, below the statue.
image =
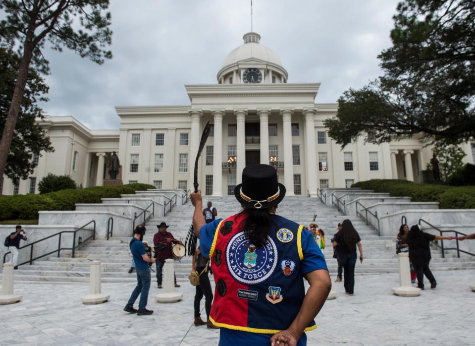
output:
[[101, 198], [119, 198], [121, 194], [155, 188], [148, 184], [95, 186], [45, 193], [0, 197], [0, 220], [38, 219], [40, 210], [74, 210], [76, 203], [101, 203]]

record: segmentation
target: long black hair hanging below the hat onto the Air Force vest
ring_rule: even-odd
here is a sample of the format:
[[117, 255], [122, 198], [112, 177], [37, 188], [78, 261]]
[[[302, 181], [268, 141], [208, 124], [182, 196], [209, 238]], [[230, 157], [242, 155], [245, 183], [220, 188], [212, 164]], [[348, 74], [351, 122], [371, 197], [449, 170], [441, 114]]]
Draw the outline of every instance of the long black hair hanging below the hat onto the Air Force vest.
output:
[[273, 224], [270, 208], [252, 209], [245, 208], [240, 214], [245, 214], [246, 218], [241, 222], [239, 228], [244, 230], [244, 234], [249, 237], [251, 243], [258, 248], [263, 247], [267, 241], [270, 228]]

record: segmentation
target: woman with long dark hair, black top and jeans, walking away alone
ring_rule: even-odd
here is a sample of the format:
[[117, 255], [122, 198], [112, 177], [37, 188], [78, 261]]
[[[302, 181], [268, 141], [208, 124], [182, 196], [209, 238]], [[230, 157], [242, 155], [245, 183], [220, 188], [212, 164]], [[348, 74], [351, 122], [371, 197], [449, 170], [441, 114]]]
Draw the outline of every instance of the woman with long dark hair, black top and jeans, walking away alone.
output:
[[341, 230], [336, 233], [333, 245], [339, 245], [339, 258], [343, 266], [345, 293], [353, 295], [355, 288], [356, 247], [360, 250], [360, 262], [363, 263], [363, 247], [360, 234], [350, 220], [344, 220]]

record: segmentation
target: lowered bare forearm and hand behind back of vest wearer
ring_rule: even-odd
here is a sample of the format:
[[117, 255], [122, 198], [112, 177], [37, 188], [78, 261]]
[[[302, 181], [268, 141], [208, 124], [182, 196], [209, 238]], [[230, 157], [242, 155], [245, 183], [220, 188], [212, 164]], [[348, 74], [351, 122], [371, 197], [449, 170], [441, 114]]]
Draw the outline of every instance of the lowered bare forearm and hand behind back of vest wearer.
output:
[[[300, 311], [287, 330], [274, 334], [270, 338], [270, 343], [274, 345], [297, 345], [305, 328], [317, 316], [321, 307], [325, 303], [331, 289], [331, 279], [327, 270], [319, 269], [304, 274], [305, 279], [310, 284], [310, 288], [305, 295]], [[278, 343], [279, 342], [279, 343]]]

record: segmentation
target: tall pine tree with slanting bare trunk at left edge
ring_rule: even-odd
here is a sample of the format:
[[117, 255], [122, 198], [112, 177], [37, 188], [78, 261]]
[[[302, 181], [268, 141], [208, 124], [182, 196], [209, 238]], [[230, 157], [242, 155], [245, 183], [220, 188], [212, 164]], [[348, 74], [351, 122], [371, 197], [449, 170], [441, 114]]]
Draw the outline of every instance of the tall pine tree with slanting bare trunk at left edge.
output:
[[3, 47], [18, 47], [20, 62], [0, 141], [0, 177], [3, 176], [25, 93], [30, 65], [48, 70], [41, 51], [48, 40], [54, 50], [64, 47], [99, 64], [111, 58], [108, 0], [0, 0], [5, 19], [0, 22]]

